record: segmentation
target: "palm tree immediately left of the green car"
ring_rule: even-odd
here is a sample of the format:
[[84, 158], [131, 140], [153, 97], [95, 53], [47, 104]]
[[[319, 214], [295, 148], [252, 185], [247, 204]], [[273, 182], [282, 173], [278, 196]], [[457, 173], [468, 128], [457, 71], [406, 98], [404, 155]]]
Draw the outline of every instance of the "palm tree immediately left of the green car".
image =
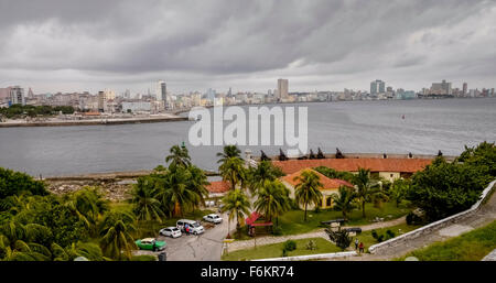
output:
[[125, 213], [108, 213], [100, 225], [100, 247], [105, 255], [122, 260], [131, 259], [136, 248], [131, 232], [136, 230], [134, 217]]

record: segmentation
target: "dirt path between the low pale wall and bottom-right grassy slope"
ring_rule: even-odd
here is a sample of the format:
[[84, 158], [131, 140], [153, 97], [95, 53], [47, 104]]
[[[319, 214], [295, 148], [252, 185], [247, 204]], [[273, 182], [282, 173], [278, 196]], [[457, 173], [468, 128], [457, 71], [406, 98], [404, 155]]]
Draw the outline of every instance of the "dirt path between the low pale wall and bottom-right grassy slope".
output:
[[420, 236], [412, 239], [405, 244], [391, 247], [382, 250], [380, 254], [363, 254], [362, 257], [348, 258], [351, 261], [375, 261], [375, 260], [391, 260], [400, 258], [410, 251], [428, 247], [436, 241], [444, 241], [446, 239], [457, 237], [463, 232], [471, 231], [476, 228], [484, 227], [496, 220], [496, 193], [494, 193], [486, 204], [483, 204], [481, 209], [473, 216], [467, 217], [457, 224], [438, 229], [429, 235]]

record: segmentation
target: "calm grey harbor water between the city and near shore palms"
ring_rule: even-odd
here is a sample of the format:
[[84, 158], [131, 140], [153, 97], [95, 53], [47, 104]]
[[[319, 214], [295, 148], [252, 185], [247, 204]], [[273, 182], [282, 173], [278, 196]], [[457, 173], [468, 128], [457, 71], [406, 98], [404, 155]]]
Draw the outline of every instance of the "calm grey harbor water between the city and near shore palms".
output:
[[[496, 140], [496, 98], [304, 104], [309, 148], [346, 152], [460, 154], [464, 145]], [[271, 107], [271, 106], [269, 106]], [[405, 119], [402, 119], [405, 116]], [[217, 168], [222, 146], [192, 146], [194, 122], [0, 129], [0, 166], [34, 176], [149, 170], [183, 141], [193, 162]], [[227, 122], [226, 122], [227, 124]], [[279, 146], [262, 149], [277, 154]]]

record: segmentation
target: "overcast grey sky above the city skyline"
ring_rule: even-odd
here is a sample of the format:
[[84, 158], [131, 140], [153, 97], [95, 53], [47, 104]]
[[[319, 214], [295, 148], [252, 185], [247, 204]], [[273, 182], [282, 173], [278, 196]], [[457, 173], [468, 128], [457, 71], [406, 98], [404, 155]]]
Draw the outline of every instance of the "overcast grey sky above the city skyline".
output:
[[35, 94], [496, 87], [494, 0], [0, 0], [0, 87]]

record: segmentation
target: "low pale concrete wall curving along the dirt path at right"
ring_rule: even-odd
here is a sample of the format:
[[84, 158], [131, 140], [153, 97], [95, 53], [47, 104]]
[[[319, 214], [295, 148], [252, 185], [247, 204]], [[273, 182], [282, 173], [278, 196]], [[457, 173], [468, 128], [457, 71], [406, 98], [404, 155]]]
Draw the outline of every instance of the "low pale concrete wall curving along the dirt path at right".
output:
[[473, 216], [475, 213], [477, 213], [477, 210], [481, 208], [482, 203], [484, 202], [484, 199], [489, 195], [490, 191], [495, 187], [496, 181], [490, 182], [490, 184], [483, 191], [482, 195], [481, 195], [481, 199], [475, 203], [471, 208], [468, 208], [465, 211], [459, 213], [456, 215], [452, 215], [450, 217], [446, 217], [444, 219], [438, 220], [435, 222], [432, 222], [430, 225], [423, 226], [419, 229], [416, 229], [413, 231], [403, 233], [399, 237], [392, 238], [390, 240], [377, 243], [371, 246], [368, 251], [370, 253], [380, 253], [385, 250], [387, 250], [388, 248], [391, 247], [398, 247], [400, 244], [405, 244], [408, 241], [416, 239], [422, 235], [428, 235], [428, 233], [432, 233], [433, 231], [436, 231], [441, 228], [451, 226], [453, 224], [460, 222], [461, 220]]

